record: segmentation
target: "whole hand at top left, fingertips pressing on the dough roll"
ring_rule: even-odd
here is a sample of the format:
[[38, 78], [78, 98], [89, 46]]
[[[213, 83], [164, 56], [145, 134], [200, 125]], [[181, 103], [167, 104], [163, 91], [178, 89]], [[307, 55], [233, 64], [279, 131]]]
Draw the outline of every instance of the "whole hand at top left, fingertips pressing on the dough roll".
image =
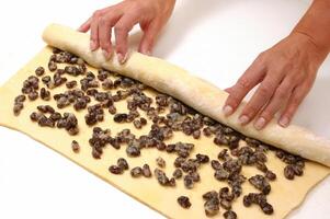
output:
[[175, 0], [125, 0], [118, 4], [98, 10], [83, 23], [80, 32], [91, 30], [91, 50], [102, 48], [105, 58], [111, 58], [112, 28], [115, 33], [115, 51], [121, 64], [125, 62], [128, 50], [128, 33], [139, 23], [144, 32], [138, 50], [150, 55], [156, 37], [169, 20]]

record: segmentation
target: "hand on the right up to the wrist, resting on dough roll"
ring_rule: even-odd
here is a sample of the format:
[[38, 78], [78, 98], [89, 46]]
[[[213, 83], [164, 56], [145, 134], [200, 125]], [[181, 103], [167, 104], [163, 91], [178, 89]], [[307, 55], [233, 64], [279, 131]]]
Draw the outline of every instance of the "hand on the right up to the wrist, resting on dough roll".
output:
[[240, 124], [249, 124], [255, 118], [254, 127], [260, 130], [284, 108], [278, 124], [288, 126], [326, 57], [311, 37], [292, 33], [261, 53], [237, 83], [226, 90], [229, 96], [224, 106], [225, 115], [231, 115], [249, 91], [260, 84], [243, 107]]

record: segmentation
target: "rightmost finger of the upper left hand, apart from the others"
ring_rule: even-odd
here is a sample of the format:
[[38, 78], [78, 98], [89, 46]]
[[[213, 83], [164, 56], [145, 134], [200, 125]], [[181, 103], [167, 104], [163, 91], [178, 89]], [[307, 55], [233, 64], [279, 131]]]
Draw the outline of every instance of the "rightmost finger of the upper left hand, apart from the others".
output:
[[150, 56], [156, 38], [161, 30], [160, 22], [151, 22], [145, 30], [139, 44], [139, 53]]

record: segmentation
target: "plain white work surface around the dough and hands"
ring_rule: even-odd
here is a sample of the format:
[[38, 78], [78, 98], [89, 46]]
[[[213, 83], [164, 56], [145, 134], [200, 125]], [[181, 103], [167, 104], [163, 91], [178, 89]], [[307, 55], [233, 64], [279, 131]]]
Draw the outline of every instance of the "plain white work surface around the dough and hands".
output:
[[[48, 23], [78, 27], [113, 2], [2, 1], [0, 83], [44, 46], [41, 33]], [[301, 0], [178, 0], [155, 55], [227, 88], [259, 53], [286, 36], [307, 8], [308, 1]], [[295, 118], [327, 138], [329, 84], [328, 59]], [[0, 137], [0, 218], [162, 218], [24, 135], [1, 127]], [[329, 205], [328, 178], [291, 218], [328, 218]]]

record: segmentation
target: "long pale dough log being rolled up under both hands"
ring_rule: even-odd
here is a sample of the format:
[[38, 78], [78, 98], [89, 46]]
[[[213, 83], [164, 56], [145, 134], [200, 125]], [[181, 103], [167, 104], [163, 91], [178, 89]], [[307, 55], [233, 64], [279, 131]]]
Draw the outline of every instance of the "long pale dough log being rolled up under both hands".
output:
[[295, 125], [283, 128], [274, 120], [261, 131], [255, 130], [251, 124], [241, 126], [238, 123], [238, 116], [244, 103], [232, 116], [226, 117], [221, 108], [228, 94], [174, 65], [139, 53], [132, 53], [125, 65], [120, 65], [116, 57], [105, 60], [100, 49], [90, 50], [88, 34], [58, 24], [46, 27], [43, 38], [54, 47], [80, 56], [91, 66], [116, 71], [160, 92], [168, 93], [200, 113], [230, 126], [246, 136], [330, 166], [330, 140]]

